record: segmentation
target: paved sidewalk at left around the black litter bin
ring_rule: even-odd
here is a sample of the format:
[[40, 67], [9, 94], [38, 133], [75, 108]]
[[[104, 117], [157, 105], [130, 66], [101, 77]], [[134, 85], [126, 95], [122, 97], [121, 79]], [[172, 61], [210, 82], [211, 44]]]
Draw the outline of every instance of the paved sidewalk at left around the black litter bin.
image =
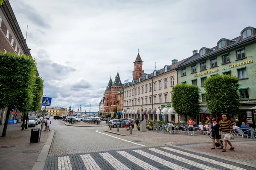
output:
[[[35, 128], [40, 127], [41, 124]], [[21, 123], [8, 125], [6, 136], [0, 137], [0, 170], [32, 170], [51, 131], [42, 131], [40, 142], [30, 144], [31, 129], [29, 127], [27, 130], [21, 130]], [[2, 132], [3, 125], [0, 126], [0, 133]]]

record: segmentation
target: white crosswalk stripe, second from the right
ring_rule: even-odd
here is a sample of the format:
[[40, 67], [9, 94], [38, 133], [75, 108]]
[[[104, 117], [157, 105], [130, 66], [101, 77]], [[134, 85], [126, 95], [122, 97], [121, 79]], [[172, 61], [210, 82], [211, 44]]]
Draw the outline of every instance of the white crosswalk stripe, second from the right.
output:
[[177, 160], [177, 161], [182, 161], [182, 162], [185, 162], [185, 163], [187, 163], [187, 164], [191, 164], [191, 165], [193, 165], [193, 166], [195, 166], [195, 167], [198, 167], [198, 168], [201, 168], [201, 169], [203, 169], [203, 170], [218, 170], [218, 169], [216, 169], [216, 168], [209, 167], [209, 166], [207, 166], [207, 165], [200, 164], [200, 163], [197, 163], [197, 162], [195, 162], [195, 161], [191, 161], [191, 160], [189, 160], [189, 159], [182, 158], [182, 157], [180, 157], [180, 156], [175, 156], [175, 155], [173, 155], [173, 154], [171, 154], [171, 153], [164, 152], [164, 151], [159, 150], [159, 149], [149, 148], [148, 150], [152, 150], [152, 151], [154, 151], [154, 152], [156, 152], [156, 153], [160, 153], [161, 155], [167, 156], [167, 157], [172, 158], [172, 159], [175, 159], [175, 160]]

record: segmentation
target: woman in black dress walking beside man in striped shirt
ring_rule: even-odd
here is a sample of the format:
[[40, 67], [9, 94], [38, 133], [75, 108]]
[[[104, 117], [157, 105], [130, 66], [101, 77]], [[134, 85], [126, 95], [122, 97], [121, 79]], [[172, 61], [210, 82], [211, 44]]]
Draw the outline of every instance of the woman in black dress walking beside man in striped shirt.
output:
[[218, 142], [218, 144], [220, 144], [219, 149], [223, 149], [223, 145], [220, 142], [221, 135], [219, 134], [219, 131], [220, 131], [220, 124], [216, 122], [215, 118], [212, 118], [211, 130], [209, 131], [209, 133], [212, 132], [212, 148], [211, 149], [215, 149], [215, 140], [216, 142]]

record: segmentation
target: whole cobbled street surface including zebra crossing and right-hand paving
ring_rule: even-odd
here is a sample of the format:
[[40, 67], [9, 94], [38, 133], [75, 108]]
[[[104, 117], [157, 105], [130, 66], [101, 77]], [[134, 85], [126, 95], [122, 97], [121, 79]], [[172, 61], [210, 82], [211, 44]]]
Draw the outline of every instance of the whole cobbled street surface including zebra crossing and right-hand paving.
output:
[[[55, 138], [45, 170], [248, 169], [256, 167], [256, 141], [235, 138], [235, 150], [211, 148], [211, 139], [125, 128], [71, 127], [52, 121]], [[111, 133], [109, 133], [111, 132]], [[126, 136], [123, 136], [126, 135]]]

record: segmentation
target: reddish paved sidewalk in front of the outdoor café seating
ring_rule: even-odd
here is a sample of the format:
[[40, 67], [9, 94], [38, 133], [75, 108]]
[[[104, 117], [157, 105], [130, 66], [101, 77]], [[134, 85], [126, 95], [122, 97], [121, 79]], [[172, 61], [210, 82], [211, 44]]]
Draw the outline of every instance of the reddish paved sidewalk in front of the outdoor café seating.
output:
[[119, 128], [119, 132], [117, 132], [117, 128], [112, 128], [112, 130], [106, 128], [104, 131], [112, 133], [113, 136], [122, 135], [122, 138], [126, 140], [132, 141], [139, 139], [142, 141], [140, 144], [145, 144], [146, 146], [151, 146], [158, 142], [159, 144], [177, 146], [186, 150], [194, 150], [197, 153], [215, 155], [230, 159], [234, 162], [256, 167], [256, 140], [252, 141], [251, 139], [235, 137], [234, 140], [231, 140], [235, 150], [228, 150], [230, 146], [227, 145], [227, 151], [223, 153], [220, 149], [211, 150], [212, 139], [210, 139], [209, 136], [203, 136], [202, 134], [197, 134], [195, 136], [189, 136], [187, 134], [171, 135], [170, 133], [157, 133], [157, 131], [153, 130], [141, 132], [135, 128], [133, 130], [133, 135], [130, 135], [130, 131], [126, 131], [126, 128]]

